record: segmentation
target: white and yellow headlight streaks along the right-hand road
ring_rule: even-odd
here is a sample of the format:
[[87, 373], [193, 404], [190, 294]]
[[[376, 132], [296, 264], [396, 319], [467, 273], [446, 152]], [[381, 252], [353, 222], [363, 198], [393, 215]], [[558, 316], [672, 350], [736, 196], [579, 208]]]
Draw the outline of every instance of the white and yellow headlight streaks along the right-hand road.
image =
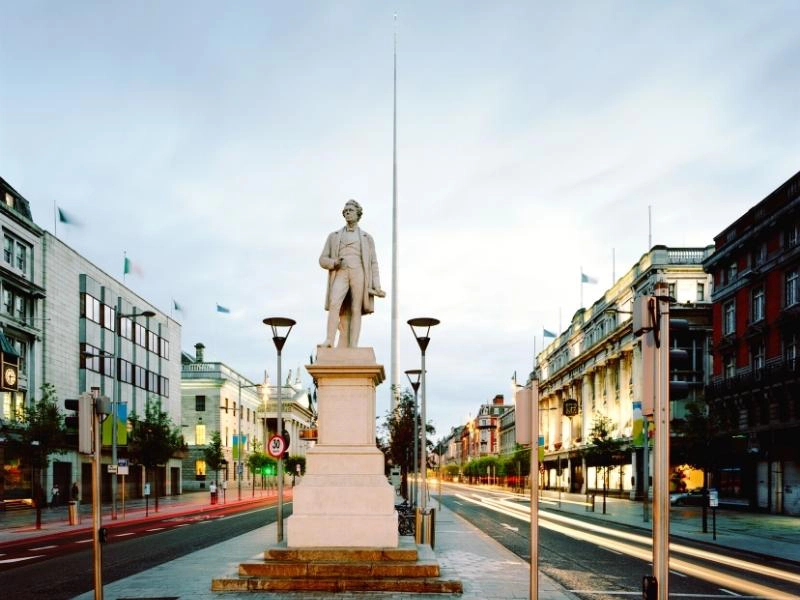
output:
[[[477, 493], [473, 493], [472, 497], [458, 493], [455, 494], [455, 496], [466, 502], [477, 504], [489, 510], [530, 524], [530, 506], [520, 505], [518, 502], [516, 502], [514, 499], [518, 500], [518, 496], [500, 496], [499, 500], [496, 497], [485, 496]], [[601, 525], [585, 523], [577, 519], [572, 519], [563, 515], [555, 515], [546, 511], [539, 511], [539, 517], [539, 527], [561, 533], [562, 535], [566, 535], [574, 539], [592, 543], [602, 548], [616, 550], [645, 562], [652, 561], [652, 539], [647, 536], [617, 531]], [[643, 547], [634, 546], [622, 541], [615, 541], [613, 539], [609, 539], [609, 537], [616, 538], [617, 540], [627, 540], [629, 542], [641, 544]], [[756, 572], [775, 579], [800, 584], [800, 574], [782, 571], [773, 567], [767, 567], [754, 562], [736, 559], [729, 556], [706, 552], [681, 544], [670, 544], [670, 550], [679, 554], [685, 554], [721, 565], [726, 565], [749, 572]], [[742, 591], [746, 594], [774, 598], [776, 600], [796, 600], [797, 598], [797, 596], [794, 594], [787, 594], [786, 592], [753, 583], [746, 579], [727, 575], [707, 567], [702, 567], [700, 565], [680, 560], [674, 558], [672, 555], [670, 555], [669, 566], [671, 569], [681, 573], [692, 575], [698, 579], [711, 582], [715, 585], [725, 586], [727, 588]]]

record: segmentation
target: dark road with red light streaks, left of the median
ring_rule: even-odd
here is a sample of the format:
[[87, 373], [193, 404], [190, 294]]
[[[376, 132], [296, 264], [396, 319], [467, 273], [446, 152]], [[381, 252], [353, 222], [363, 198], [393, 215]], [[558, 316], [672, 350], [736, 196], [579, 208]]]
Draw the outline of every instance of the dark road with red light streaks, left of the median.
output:
[[[284, 518], [289, 515], [291, 503], [284, 504]], [[261, 506], [238, 513], [217, 511], [115, 526], [102, 549], [103, 581], [109, 583], [142, 572], [275, 519], [275, 506]], [[265, 547], [269, 542], [265, 540]], [[45, 542], [32, 541], [28, 547], [7, 551], [4, 558], [12, 552], [36, 558], [4, 564], [0, 572], [4, 599], [60, 600], [94, 588], [92, 543], [86, 532]], [[221, 562], [225, 560], [227, 557], [220, 557]]]

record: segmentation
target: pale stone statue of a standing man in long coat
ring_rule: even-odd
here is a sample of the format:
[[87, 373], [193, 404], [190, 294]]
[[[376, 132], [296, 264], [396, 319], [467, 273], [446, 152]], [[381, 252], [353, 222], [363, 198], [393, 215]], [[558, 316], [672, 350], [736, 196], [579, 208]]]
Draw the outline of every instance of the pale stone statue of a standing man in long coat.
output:
[[363, 212], [355, 200], [345, 203], [342, 216], [346, 225], [328, 236], [319, 257], [320, 266], [328, 270], [328, 328], [320, 346], [332, 348], [338, 329], [337, 347], [356, 348], [361, 315], [374, 312], [374, 296], [386, 296], [381, 290], [375, 242], [358, 226]]

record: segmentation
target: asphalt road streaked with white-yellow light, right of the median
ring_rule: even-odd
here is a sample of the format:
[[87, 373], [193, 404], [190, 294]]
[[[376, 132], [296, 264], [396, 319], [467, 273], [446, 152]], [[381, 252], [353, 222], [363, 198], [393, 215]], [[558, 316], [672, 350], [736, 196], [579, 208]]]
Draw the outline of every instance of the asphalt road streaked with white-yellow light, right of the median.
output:
[[[442, 502], [530, 561], [525, 496], [445, 484]], [[641, 529], [539, 509], [539, 568], [581, 598], [640, 596], [642, 577], [652, 573], [651, 548], [649, 532]], [[797, 598], [800, 573], [763, 556], [673, 541], [669, 588], [674, 597]]]

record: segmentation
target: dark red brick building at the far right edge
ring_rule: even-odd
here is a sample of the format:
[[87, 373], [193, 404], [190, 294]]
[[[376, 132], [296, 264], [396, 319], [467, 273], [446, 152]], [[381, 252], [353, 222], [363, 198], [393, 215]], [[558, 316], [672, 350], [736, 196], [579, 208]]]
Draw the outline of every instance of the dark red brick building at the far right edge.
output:
[[800, 173], [714, 241], [712, 484], [800, 515]]

